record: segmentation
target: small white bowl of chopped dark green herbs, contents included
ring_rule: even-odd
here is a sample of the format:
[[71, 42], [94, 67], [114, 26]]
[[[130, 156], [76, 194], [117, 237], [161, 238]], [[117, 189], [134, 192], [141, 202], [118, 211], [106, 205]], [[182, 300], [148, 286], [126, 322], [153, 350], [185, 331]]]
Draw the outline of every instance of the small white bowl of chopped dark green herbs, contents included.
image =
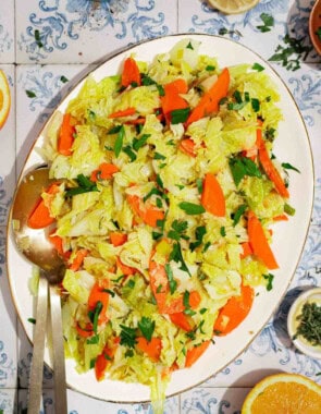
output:
[[300, 352], [321, 358], [321, 288], [311, 288], [294, 301], [287, 315], [287, 330]]

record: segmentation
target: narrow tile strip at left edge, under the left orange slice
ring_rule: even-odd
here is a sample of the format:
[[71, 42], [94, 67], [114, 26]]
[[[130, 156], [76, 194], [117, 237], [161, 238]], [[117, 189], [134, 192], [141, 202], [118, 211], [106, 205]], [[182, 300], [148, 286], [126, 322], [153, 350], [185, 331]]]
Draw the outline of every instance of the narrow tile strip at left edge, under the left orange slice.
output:
[[15, 183], [15, 68], [0, 64], [8, 78], [11, 93], [9, 117], [0, 130], [0, 226], [5, 226]]

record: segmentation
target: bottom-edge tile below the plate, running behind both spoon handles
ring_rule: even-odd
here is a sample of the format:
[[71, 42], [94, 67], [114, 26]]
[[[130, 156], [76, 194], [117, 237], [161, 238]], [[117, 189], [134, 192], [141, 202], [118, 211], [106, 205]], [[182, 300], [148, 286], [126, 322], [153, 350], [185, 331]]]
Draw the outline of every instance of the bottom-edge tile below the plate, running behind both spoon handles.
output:
[[[23, 414], [27, 406], [27, 390], [18, 391], [17, 414]], [[150, 404], [122, 404], [92, 399], [73, 390], [67, 390], [67, 411], [70, 414], [152, 414]], [[177, 414], [180, 412], [180, 399], [173, 397], [165, 401], [164, 414]], [[42, 410], [40, 414], [54, 413], [53, 390], [45, 389], [42, 393]]]

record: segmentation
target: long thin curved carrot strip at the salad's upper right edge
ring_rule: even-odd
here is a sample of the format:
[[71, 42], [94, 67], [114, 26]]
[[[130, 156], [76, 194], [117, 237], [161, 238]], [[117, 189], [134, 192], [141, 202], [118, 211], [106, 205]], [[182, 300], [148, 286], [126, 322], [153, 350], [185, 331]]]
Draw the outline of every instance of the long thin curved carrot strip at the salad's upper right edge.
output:
[[272, 160], [269, 156], [264, 139], [262, 138], [262, 129], [261, 129], [262, 122], [259, 121], [258, 123], [259, 123], [259, 126], [257, 129], [257, 146], [259, 148], [260, 163], [261, 163], [266, 174], [268, 175], [268, 178], [273, 182], [276, 192], [282, 197], [288, 198], [289, 197], [288, 190], [286, 188], [280, 172], [277, 171], [274, 163], [272, 162]]

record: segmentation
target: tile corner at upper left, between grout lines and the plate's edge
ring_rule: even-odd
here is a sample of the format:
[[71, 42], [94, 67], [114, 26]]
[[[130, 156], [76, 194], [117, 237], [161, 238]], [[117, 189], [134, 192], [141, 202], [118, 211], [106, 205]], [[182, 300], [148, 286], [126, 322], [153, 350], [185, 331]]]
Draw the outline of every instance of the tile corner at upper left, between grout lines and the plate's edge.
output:
[[20, 173], [44, 124], [61, 100], [87, 74], [87, 65], [18, 65], [16, 72], [16, 171]]

